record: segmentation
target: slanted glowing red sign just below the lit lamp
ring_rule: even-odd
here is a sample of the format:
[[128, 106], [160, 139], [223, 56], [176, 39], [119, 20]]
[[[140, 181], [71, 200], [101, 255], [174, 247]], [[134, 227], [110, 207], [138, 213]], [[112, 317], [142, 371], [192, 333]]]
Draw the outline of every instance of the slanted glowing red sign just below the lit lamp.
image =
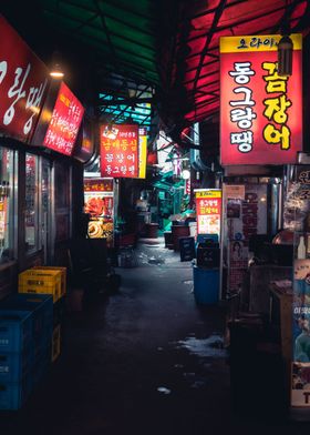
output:
[[71, 155], [83, 114], [83, 105], [62, 82], [43, 144]]

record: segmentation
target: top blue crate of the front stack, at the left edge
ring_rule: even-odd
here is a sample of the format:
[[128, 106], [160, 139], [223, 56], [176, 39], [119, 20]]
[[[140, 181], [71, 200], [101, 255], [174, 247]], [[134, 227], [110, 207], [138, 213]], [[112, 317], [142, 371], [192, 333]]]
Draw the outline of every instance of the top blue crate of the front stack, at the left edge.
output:
[[0, 352], [22, 352], [32, 336], [30, 311], [0, 310]]

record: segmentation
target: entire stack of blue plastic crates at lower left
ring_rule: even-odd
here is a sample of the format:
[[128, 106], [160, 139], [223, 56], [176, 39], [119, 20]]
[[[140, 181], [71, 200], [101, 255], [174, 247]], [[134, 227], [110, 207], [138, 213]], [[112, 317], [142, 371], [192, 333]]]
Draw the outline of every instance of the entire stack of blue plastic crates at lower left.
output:
[[12, 294], [0, 302], [0, 409], [19, 409], [51, 363], [51, 295]]

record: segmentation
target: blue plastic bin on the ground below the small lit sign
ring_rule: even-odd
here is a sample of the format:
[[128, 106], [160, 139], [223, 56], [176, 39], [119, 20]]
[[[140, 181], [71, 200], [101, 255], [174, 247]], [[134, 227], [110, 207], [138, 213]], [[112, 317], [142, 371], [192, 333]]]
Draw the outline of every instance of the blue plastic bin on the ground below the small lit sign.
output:
[[219, 301], [219, 270], [193, 267], [194, 296], [197, 304], [216, 305]]

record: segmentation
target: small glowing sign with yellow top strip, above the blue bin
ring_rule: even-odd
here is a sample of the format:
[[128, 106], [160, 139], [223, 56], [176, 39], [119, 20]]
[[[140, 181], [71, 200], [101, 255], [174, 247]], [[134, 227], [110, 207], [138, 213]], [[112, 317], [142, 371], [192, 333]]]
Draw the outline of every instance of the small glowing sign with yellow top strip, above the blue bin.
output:
[[197, 234], [220, 234], [221, 191], [197, 190], [196, 215]]

